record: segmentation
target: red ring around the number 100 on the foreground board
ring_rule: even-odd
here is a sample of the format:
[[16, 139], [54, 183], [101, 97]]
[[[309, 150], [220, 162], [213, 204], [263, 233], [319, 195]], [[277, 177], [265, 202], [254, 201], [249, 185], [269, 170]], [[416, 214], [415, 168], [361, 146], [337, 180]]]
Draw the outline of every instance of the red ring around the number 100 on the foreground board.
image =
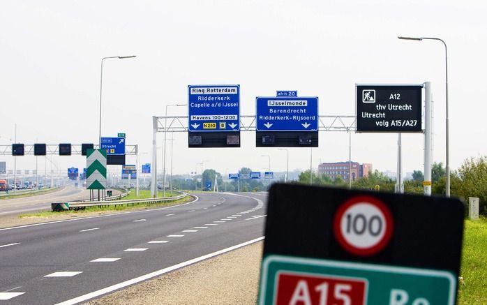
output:
[[[344, 219], [343, 217], [345, 216], [347, 211], [350, 211], [351, 209], [354, 209], [360, 205], [365, 205], [365, 206], [369, 205], [368, 209], [376, 209], [380, 211], [382, 213], [382, 215], [380, 216], [384, 218], [385, 232], [380, 236], [379, 240], [377, 240], [375, 243], [371, 244], [370, 246], [359, 247], [356, 244], [353, 244], [350, 241], [350, 238], [345, 237], [344, 232], [342, 232], [342, 228], [343, 228], [342, 221]], [[381, 218], [380, 216], [374, 216], [374, 217]], [[365, 216], [361, 216], [361, 217], [364, 218], [364, 228], [366, 228], [366, 218]], [[350, 223], [350, 218], [349, 218], [349, 223]], [[350, 224], [348, 228], [350, 229]], [[380, 228], [382, 229], [382, 225]], [[368, 195], [361, 195], [361, 196], [350, 198], [338, 208], [338, 211], [336, 211], [334, 217], [334, 234], [336, 240], [338, 241], [338, 244], [340, 244], [340, 246], [345, 248], [345, 250], [347, 250], [348, 252], [354, 255], [360, 255], [360, 256], [373, 255], [381, 251], [385, 246], [387, 246], [387, 244], [391, 240], [393, 228], [394, 228], [394, 223], [389, 208], [377, 198]]]

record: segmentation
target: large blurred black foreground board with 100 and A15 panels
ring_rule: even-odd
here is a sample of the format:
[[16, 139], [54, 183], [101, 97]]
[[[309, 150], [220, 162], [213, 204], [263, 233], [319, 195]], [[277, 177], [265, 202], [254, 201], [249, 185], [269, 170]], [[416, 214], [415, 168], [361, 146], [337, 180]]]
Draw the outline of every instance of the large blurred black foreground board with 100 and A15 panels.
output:
[[275, 184], [259, 304], [454, 305], [463, 204]]

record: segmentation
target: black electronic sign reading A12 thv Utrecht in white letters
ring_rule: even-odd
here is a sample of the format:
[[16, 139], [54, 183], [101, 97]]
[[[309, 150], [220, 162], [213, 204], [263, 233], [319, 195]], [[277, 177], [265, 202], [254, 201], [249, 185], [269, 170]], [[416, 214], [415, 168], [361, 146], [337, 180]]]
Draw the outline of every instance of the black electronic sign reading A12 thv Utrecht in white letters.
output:
[[422, 84], [357, 84], [357, 132], [420, 133]]

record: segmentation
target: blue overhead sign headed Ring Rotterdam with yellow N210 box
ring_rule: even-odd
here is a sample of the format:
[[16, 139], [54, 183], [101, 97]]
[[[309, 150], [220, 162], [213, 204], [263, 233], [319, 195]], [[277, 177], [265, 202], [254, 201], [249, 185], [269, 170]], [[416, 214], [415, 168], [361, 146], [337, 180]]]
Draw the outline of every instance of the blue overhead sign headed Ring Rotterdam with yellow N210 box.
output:
[[189, 131], [240, 131], [240, 85], [188, 86]]

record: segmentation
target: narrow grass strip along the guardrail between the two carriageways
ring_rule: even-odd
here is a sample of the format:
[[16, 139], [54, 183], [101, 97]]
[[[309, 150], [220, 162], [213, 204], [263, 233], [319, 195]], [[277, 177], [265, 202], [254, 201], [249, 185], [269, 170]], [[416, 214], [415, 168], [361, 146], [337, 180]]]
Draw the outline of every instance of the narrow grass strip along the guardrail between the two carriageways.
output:
[[[140, 197], [138, 197], [140, 198]], [[125, 198], [123, 198], [125, 199]], [[89, 213], [99, 213], [99, 212], [110, 212], [110, 211], [124, 211], [127, 209], [152, 209], [154, 207], [170, 207], [175, 204], [181, 204], [190, 202], [193, 200], [191, 196], [186, 196], [185, 198], [181, 198], [179, 200], [174, 200], [172, 202], [161, 202], [161, 203], [140, 203], [140, 204], [120, 204], [120, 205], [110, 205], [105, 207], [87, 207], [86, 209], [82, 210], [70, 210], [70, 211], [39, 211], [36, 213], [29, 213], [29, 214], [20, 214], [19, 218], [53, 218], [56, 216], [82, 216], [83, 214]]]

